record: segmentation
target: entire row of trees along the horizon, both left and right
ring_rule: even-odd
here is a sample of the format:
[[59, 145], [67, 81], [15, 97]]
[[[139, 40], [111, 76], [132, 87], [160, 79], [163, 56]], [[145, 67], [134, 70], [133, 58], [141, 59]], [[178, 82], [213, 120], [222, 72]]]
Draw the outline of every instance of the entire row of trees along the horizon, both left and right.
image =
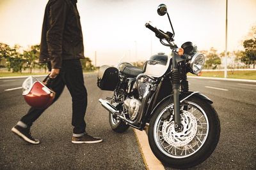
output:
[[[255, 68], [256, 62], [256, 25], [254, 25], [245, 40], [243, 41], [244, 50], [237, 50], [234, 52], [228, 52], [228, 57], [232, 57], [233, 62], [242, 62], [245, 65], [253, 64]], [[39, 68], [47, 71], [46, 64], [39, 64], [38, 57], [40, 52], [40, 45], [29, 46], [28, 50], [22, 50], [22, 47], [15, 45], [13, 47], [0, 43], [0, 67], [6, 67], [8, 71], [22, 72], [26, 69], [29, 73], [33, 69]], [[202, 50], [205, 55], [205, 68], [216, 69], [221, 64], [221, 57], [225, 56], [225, 52], [218, 53], [216, 49], [211, 48], [210, 50]], [[5, 63], [3, 63], [5, 61]], [[92, 64], [92, 60], [86, 57], [81, 60], [84, 71], [94, 71], [96, 69]], [[140, 62], [135, 63], [136, 66], [140, 66]], [[235, 64], [234, 64], [235, 65]], [[143, 62], [142, 65], [143, 66]], [[229, 66], [234, 67], [234, 66]]]

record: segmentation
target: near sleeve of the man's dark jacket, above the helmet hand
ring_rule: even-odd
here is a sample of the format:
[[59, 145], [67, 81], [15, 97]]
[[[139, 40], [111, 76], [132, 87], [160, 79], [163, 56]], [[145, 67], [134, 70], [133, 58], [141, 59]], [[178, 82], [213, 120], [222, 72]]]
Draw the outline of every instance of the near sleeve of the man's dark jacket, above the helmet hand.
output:
[[67, 3], [55, 0], [49, 6], [49, 29], [46, 41], [52, 69], [61, 68], [62, 37], [67, 16]]

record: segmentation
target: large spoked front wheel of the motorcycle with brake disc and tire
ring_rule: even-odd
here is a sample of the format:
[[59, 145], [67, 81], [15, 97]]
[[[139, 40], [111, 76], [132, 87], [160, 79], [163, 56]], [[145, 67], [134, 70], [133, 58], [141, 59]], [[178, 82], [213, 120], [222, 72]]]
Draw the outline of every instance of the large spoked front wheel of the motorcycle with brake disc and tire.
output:
[[154, 111], [148, 128], [150, 148], [164, 165], [186, 169], [207, 159], [220, 138], [218, 114], [198, 97], [180, 103], [182, 129], [175, 131], [173, 101], [166, 101]]

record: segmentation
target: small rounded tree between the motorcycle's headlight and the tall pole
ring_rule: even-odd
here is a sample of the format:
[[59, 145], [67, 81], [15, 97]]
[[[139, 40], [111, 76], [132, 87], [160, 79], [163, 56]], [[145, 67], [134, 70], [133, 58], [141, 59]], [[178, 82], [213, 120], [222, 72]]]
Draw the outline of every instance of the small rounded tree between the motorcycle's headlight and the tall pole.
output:
[[216, 69], [218, 65], [221, 64], [221, 59], [217, 53], [217, 50], [215, 50], [213, 47], [205, 53], [205, 66], [207, 68]]

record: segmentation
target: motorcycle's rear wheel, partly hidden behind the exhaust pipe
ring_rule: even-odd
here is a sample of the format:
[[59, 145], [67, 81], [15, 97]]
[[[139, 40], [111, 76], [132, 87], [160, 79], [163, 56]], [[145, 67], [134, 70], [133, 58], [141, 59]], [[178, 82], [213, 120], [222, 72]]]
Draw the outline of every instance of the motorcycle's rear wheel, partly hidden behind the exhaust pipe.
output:
[[[120, 99], [122, 99], [122, 96], [118, 96]], [[115, 106], [118, 110], [122, 109], [122, 104], [118, 103], [111, 103], [113, 106]], [[113, 131], [122, 133], [127, 131], [127, 129], [130, 127], [129, 125], [125, 124], [124, 121], [118, 119], [118, 117], [115, 117], [112, 113], [109, 113], [109, 125]]]

